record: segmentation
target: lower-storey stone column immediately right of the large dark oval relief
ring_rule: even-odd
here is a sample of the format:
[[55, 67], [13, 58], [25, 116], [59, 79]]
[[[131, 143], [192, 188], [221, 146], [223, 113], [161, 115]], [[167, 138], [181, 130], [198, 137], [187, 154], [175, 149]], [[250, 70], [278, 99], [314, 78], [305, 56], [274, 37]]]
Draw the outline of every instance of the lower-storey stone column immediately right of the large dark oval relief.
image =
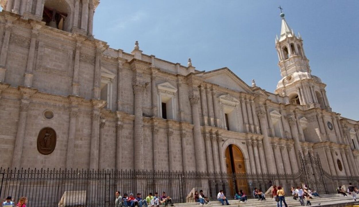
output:
[[71, 101], [70, 109], [70, 124], [69, 124], [69, 138], [67, 139], [67, 152], [66, 152], [66, 169], [76, 168], [74, 165], [75, 153], [75, 138], [76, 138], [76, 120], [79, 113], [79, 103], [82, 98], [69, 97]]

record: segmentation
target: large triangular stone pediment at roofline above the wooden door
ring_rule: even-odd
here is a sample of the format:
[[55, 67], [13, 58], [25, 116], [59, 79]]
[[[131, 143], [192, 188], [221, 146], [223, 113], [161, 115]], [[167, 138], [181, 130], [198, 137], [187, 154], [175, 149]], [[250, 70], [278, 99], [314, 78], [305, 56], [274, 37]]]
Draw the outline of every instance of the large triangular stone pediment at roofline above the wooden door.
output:
[[252, 87], [248, 86], [236, 74], [228, 68], [220, 68], [200, 74], [206, 82], [213, 83], [233, 91], [252, 93]]

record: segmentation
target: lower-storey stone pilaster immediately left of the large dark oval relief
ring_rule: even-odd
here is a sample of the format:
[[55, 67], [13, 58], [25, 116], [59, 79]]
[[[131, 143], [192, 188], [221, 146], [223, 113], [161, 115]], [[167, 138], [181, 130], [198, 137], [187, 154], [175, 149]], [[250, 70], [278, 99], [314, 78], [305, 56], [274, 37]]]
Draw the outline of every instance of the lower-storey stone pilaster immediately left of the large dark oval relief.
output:
[[22, 95], [22, 98], [20, 100], [19, 122], [18, 122], [16, 138], [15, 138], [11, 168], [20, 168], [23, 149], [24, 149], [26, 120], [27, 120], [28, 109], [30, 107], [30, 102], [31, 102], [30, 97], [37, 92], [37, 90], [34, 90], [32, 88], [23, 88], [23, 87], [19, 87], [19, 91]]

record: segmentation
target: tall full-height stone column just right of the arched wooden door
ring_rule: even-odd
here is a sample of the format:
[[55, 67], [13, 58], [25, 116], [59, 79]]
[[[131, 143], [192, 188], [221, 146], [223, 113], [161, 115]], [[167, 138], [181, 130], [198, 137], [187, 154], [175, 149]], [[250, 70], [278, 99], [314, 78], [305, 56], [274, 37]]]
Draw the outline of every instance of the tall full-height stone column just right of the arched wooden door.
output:
[[[267, 163], [274, 163], [274, 154], [269, 143], [268, 131], [267, 131], [267, 118], [266, 118], [266, 111], [264, 107], [257, 108], [257, 116], [261, 125], [262, 135], [263, 135], [263, 145], [264, 145], [264, 152], [266, 155], [266, 162]], [[268, 166], [269, 173], [277, 173], [277, 169], [273, 164], [269, 164]]]

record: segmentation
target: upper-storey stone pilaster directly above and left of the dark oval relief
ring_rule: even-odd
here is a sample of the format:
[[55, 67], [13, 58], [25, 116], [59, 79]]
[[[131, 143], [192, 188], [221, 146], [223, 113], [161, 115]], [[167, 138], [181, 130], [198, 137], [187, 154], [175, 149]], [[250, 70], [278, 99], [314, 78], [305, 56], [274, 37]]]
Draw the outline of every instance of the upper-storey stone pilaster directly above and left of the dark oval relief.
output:
[[32, 87], [32, 69], [34, 65], [34, 56], [35, 56], [35, 47], [36, 47], [36, 39], [38, 34], [38, 29], [40, 27], [36, 24], [33, 24], [33, 29], [31, 33], [31, 42], [30, 42], [30, 49], [29, 54], [27, 57], [27, 64], [26, 64], [26, 72], [24, 78], [24, 86]]

